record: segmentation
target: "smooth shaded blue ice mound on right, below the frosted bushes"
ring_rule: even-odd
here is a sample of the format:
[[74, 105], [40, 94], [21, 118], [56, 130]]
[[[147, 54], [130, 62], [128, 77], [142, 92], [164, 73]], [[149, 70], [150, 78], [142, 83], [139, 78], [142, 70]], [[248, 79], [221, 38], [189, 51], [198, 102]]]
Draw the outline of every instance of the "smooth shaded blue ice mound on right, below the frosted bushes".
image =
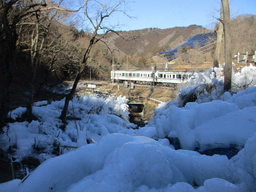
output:
[[247, 88], [226, 101], [187, 103], [158, 108], [150, 123], [135, 134], [158, 138], [179, 138], [182, 149], [200, 151], [217, 147], [238, 149], [256, 132], [256, 87]]

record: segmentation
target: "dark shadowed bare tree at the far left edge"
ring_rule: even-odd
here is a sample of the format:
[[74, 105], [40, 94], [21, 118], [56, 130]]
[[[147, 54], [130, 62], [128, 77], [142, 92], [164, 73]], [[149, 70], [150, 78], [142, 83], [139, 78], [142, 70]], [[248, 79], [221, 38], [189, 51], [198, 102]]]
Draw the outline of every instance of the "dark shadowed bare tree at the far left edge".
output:
[[10, 106], [10, 92], [12, 83], [12, 68], [16, 64], [19, 52], [19, 31], [18, 23], [29, 17], [39, 8], [46, 6], [43, 1], [23, 0], [0, 0], [0, 65], [3, 70], [3, 90], [0, 104], [0, 132], [4, 127], [4, 120], [7, 117]]

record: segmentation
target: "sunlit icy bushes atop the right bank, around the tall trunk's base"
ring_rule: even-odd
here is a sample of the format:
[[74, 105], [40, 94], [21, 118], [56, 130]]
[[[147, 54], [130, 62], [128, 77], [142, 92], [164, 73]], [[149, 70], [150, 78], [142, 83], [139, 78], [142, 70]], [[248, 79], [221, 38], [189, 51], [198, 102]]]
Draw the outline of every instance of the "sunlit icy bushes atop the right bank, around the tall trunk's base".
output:
[[[213, 100], [223, 100], [224, 89], [224, 69], [214, 68], [214, 72], [205, 72], [195, 75], [195, 79], [190, 79], [189, 82], [181, 84], [180, 94], [173, 101], [161, 103], [157, 108], [166, 109], [171, 105], [184, 107], [187, 102], [195, 101], [196, 103], [206, 103]], [[243, 67], [240, 72], [232, 73], [232, 93], [243, 91], [247, 87], [256, 85], [256, 66]]]

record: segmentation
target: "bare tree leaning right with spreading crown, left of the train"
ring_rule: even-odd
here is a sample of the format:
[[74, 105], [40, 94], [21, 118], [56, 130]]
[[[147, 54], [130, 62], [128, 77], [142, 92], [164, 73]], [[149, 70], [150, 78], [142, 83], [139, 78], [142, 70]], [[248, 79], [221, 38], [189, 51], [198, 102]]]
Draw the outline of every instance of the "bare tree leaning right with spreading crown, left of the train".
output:
[[[89, 21], [89, 24], [91, 26], [91, 31], [90, 31], [90, 37], [89, 37], [89, 43], [86, 47], [83, 60], [80, 62], [80, 67], [77, 72], [72, 90], [68, 95], [65, 97], [65, 104], [63, 107], [63, 110], [61, 112], [60, 119], [62, 123], [66, 122], [66, 116], [67, 116], [67, 111], [68, 111], [68, 106], [69, 106], [69, 101], [73, 98], [73, 95], [75, 93], [76, 86], [81, 78], [81, 74], [83, 70], [85, 69], [86, 64], [88, 63], [89, 59], [89, 54], [91, 49], [94, 47], [95, 44], [98, 42], [103, 42], [103, 38], [110, 32], [114, 32], [114, 28], [116, 26], [111, 26], [110, 24], [105, 24], [103, 21], [106, 20], [106, 18], [110, 17], [115, 12], [123, 12], [121, 10], [122, 5], [125, 4], [124, 0], [118, 0], [115, 4], [108, 3], [107, 1], [98, 1], [98, 0], [85, 0], [85, 8], [84, 8], [84, 14]], [[92, 12], [90, 8], [93, 7], [95, 12]], [[99, 34], [99, 33], [102, 34]], [[107, 46], [107, 44], [105, 43]]]

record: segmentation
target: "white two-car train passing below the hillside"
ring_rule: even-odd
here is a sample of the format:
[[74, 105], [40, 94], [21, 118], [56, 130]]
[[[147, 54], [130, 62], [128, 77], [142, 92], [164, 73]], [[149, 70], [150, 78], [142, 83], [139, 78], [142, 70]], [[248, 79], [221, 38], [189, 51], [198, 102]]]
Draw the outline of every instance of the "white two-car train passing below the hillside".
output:
[[111, 71], [111, 80], [115, 82], [134, 82], [138, 84], [153, 84], [164, 86], [175, 86], [186, 82], [194, 72], [168, 72], [168, 71]]

